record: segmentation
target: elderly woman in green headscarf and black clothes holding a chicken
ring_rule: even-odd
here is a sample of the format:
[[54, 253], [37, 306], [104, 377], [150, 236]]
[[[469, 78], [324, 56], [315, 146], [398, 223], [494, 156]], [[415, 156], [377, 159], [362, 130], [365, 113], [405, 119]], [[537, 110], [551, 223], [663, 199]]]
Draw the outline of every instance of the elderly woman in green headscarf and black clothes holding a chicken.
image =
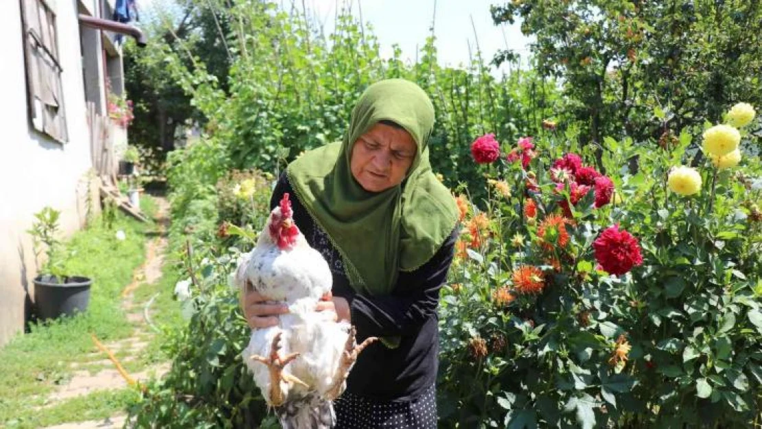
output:
[[[334, 311], [375, 336], [335, 403], [337, 427], [437, 427], [435, 381], [439, 291], [453, 259], [457, 209], [431, 172], [434, 107], [402, 79], [367, 88], [341, 142], [306, 152], [280, 177], [307, 241], [328, 261]], [[243, 299], [252, 328], [277, 324], [284, 310]]]

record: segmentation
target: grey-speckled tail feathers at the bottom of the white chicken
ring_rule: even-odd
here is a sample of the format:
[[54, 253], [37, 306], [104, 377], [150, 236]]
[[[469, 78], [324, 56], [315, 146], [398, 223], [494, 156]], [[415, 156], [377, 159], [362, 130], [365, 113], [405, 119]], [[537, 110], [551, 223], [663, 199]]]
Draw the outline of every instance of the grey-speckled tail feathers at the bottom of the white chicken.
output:
[[316, 393], [288, 399], [275, 408], [283, 429], [330, 429], [336, 425], [336, 413], [330, 401]]

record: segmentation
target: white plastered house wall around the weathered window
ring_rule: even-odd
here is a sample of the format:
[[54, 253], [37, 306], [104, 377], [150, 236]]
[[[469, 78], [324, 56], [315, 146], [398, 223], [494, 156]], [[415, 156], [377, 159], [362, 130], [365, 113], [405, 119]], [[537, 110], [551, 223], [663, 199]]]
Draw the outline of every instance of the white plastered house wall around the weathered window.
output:
[[[66, 235], [83, 226], [91, 183], [90, 135], [82, 75], [78, 0], [48, 0], [56, 12], [59, 61], [69, 142], [37, 133], [27, 113], [27, 89], [18, 0], [0, 14], [0, 345], [24, 328], [34, 299], [34, 251], [26, 230], [44, 206], [62, 211]], [[84, 2], [92, 5], [93, 2]], [[83, 4], [84, 4], [83, 3]], [[101, 68], [102, 69], [102, 68]], [[97, 194], [96, 194], [97, 195]], [[93, 200], [98, 206], [97, 198]]]

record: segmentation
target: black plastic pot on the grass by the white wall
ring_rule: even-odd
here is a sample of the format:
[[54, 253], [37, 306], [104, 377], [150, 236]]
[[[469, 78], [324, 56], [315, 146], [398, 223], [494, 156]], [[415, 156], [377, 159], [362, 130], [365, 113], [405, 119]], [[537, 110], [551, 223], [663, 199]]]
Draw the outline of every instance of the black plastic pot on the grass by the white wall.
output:
[[53, 276], [34, 277], [34, 301], [40, 319], [58, 319], [88, 309], [91, 279], [66, 277], [65, 283], [58, 282]]

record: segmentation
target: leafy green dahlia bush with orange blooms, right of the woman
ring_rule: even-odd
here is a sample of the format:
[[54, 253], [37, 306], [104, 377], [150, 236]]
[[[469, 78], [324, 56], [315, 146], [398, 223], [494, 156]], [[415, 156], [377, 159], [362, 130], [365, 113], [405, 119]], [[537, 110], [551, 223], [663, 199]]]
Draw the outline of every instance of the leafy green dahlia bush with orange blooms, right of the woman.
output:
[[[548, 168], [570, 142], [537, 139], [533, 172], [485, 169], [511, 196], [495, 191], [481, 215], [471, 207], [443, 294], [445, 427], [748, 427], [760, 416], [758, 158], [736, 172], [705, 162], [700, 196], [679, 197], [666, 178], [691, 156], [682, 136], [657, 152], [607, 139], [619, 197], [599, 209], [594, 190], [582, 197], [565, 244], [546, 222], [571, 195]], [[594, 150], [584, 154], [591, 164]], [[536, 220], [523, 216], [530, 199]], [[613, 224], [642, 246], [629, 274], [594, 268], [591, 244]], [[522, 266], [543, 273], [541, 293], [522, 291]]]

